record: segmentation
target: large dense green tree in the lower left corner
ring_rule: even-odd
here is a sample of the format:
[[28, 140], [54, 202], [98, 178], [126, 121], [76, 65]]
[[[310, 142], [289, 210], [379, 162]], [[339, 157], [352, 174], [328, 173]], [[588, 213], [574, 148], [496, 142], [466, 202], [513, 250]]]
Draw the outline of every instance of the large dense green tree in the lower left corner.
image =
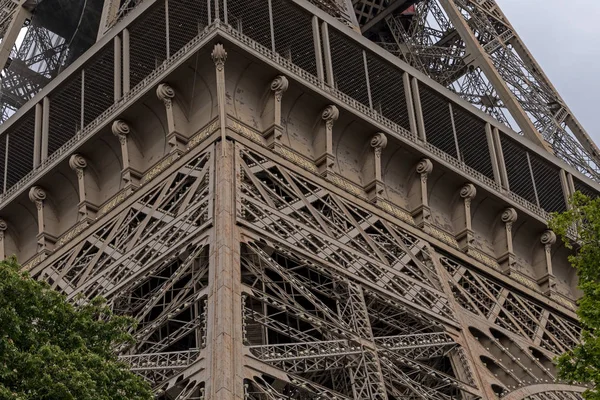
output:
[[130, 318], [103, 299], [74, 306], [46, 283], [0, 262], [0, 400], [147, 400], [147, 383], [113, 349]]

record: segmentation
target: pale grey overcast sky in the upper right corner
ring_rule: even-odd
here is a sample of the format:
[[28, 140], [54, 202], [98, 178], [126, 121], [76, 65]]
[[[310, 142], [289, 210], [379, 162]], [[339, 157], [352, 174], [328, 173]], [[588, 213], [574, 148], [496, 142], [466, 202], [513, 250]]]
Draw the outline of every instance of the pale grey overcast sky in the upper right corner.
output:
[[600, 146], [600, 0], [496, 0]]

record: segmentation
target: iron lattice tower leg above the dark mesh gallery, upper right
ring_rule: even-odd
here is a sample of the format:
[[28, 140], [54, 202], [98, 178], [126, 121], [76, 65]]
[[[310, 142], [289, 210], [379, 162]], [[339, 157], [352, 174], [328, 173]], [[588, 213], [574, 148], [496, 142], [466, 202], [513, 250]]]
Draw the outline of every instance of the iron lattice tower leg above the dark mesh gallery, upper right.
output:
[[367, 37], [599, 179], [600, 151], [495, 1], [353, 4]]

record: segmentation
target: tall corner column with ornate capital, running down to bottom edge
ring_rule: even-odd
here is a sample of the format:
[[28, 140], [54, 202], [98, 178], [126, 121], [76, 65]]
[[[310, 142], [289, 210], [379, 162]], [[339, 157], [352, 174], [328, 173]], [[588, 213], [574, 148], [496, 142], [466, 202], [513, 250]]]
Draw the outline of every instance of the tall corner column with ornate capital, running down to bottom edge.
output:
[[[225, 107], [225, 60], [222, 44], [212, 59], [217, 75], [219, 112]], [[225, 116], [221, 116], [225, 135]], [[223, 136], [215, 160], [214, 240], [210, 249], [207, 333], [207, 399], [241, 400], [243, 394], [243, 334], [241, 303], [240, 237], [235, 225], [235, 146]], [[219, 149], [220, 148], [220, 149]]]

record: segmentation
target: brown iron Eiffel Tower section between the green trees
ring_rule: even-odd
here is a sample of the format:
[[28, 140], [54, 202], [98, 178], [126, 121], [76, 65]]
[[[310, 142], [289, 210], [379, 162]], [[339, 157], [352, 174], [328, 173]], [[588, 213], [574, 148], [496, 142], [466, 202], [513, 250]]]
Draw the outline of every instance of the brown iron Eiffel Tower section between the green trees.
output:
[[495, 1], [0, 5], [0, 258], [157, 399], [583, 399], [599, 153]]

